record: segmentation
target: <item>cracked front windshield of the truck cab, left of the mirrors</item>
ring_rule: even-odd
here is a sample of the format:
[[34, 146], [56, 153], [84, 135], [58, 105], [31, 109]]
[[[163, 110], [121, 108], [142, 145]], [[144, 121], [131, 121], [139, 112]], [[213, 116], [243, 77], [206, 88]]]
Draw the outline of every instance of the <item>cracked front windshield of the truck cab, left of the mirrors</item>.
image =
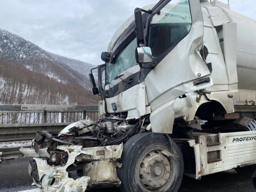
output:
[[121, 50], [114, 61], [106, 64], [105, 69], [105, 83], [112, 82], [114, 78], [130, 67], [138, 65], [135, 60], [135, 49], [137, 47], [136, 38], [134, 38], [128, 45]]

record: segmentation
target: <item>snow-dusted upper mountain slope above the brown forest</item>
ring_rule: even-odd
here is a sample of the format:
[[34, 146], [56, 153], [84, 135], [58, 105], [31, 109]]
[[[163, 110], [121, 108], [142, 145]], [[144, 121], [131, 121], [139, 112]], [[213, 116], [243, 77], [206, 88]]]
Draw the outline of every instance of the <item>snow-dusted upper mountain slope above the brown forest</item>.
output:
[[26, 39], [0, 29], [0, 57], [64, 84], [91, 89], [88, 74], [95, 65], [49, 53]]

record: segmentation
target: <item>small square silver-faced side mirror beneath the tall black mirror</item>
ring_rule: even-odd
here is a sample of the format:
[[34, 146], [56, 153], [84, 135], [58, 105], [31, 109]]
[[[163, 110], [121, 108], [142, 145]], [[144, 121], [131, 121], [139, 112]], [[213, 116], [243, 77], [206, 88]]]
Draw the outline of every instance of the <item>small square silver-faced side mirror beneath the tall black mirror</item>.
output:
[[151, 63], [152, 52], [150, 47], [137, 47], [135, 49], [135, 58], [137, 63]]

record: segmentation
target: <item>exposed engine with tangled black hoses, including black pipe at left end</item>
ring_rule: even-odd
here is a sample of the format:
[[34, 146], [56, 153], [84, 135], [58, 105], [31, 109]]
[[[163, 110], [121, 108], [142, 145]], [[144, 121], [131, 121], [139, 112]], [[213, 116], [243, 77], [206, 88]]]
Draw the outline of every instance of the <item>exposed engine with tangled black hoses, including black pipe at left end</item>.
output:
[[56, 145], [81, 145], [83, 147], [97, 147], [125, 143], [136, 133], [144, 131], [142, 126], [148, 121], [126, 120], [125, 116], [102, 118], [96, 122], [81, 120], [65, 127], [61, 132], [36, 133], [35, 142], [32, 144], [37, 152], [45, 146], [56, 150]]

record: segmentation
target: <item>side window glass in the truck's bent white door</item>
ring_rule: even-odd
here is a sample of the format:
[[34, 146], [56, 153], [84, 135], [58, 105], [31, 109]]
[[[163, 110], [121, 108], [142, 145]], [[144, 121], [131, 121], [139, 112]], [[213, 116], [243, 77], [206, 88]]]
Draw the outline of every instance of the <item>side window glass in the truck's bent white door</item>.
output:
[[182, 0], [176, 6], [167, 4], [159, 15], [154, 15], [148, 46], [154, 60], [160, 54], [185, 37], [192, 25], [188, 0]]

